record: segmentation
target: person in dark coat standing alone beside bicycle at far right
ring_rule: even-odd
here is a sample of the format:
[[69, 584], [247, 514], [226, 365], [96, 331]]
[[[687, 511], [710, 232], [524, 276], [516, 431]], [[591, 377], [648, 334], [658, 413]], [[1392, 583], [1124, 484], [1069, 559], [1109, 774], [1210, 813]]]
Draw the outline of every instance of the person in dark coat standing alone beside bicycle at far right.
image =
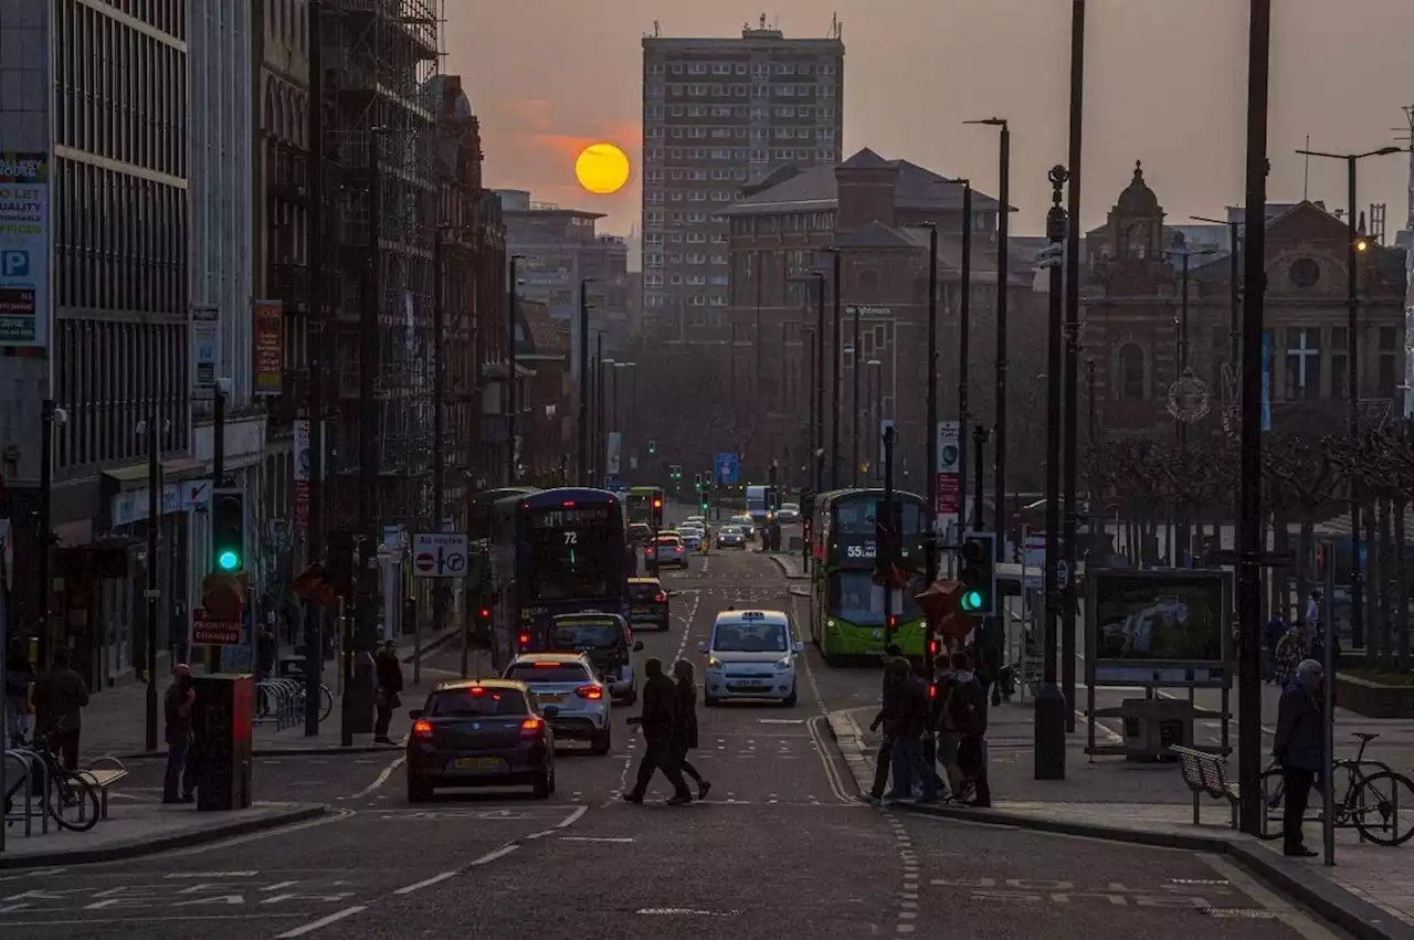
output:
[[1284, 852], [1294, 858], [1311, 858], [1305, 847], [1301, 821], [1307, 814], [1311, 787], [1325, 777], [1325, 746], [1322, 735], [1321, 663], [1304, 659], [1297, 666], [1295, 678], [1281, 693], [1277, 704], [1277, 734], [1271, 756], [1281, 765], [1281, 786], [1285, 804], [1281, 813]]

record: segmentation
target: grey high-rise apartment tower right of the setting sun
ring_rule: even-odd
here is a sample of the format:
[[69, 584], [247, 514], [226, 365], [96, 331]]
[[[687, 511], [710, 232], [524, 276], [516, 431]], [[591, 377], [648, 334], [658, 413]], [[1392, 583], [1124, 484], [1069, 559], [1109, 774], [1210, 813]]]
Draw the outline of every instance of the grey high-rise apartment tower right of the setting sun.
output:
[[643, 319], [725, 322], [730, 228], [717, 213], [772, 171], [840, 161], [844, 41], [744, 27], [643, 38]]

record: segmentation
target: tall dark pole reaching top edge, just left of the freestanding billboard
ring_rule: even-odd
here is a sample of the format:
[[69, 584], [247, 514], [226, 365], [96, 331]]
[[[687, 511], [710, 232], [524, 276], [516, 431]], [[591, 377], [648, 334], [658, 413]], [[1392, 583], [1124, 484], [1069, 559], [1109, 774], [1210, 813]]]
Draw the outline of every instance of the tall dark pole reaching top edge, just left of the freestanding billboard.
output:
[[[1065, 253], [1065, 563], [1069, 577], [1062, 585], [1060, 683], [1066, 703], [1075, 697], [1075, 527], [1076, 527], [1076, 416], [1079, 413], [1080, 362], [1080, 177], [1085, 133], [1085, 0], [1070, 4], [1070, 148], [1069, 189], [1066, 191]], [[1075, 708], [1066, 708], [1065, 728], [1075, 731]]]

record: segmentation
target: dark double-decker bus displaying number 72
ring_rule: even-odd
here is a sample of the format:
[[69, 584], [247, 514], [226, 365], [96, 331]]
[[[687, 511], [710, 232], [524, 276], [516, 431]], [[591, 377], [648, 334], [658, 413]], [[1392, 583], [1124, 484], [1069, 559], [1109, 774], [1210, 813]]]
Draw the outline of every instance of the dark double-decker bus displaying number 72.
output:
[[534, 649], [559, 613], [628, 616], [624, 502], [604, 489], [505, 496], [491, 519], [491, 656], [496, 669]]

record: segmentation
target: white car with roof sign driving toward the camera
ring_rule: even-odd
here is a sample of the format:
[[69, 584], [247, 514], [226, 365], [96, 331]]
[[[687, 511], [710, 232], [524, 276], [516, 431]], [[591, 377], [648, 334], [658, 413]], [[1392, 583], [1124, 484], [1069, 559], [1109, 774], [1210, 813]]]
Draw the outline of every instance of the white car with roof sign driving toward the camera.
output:
[[768, 698], [795, 705], [796, 657], [805, 643], [790, 636], [783, 611], [723, 611], [711, 639], [699, 643], [707, 656], [703, 671], [703, 704], [724, 698]]

